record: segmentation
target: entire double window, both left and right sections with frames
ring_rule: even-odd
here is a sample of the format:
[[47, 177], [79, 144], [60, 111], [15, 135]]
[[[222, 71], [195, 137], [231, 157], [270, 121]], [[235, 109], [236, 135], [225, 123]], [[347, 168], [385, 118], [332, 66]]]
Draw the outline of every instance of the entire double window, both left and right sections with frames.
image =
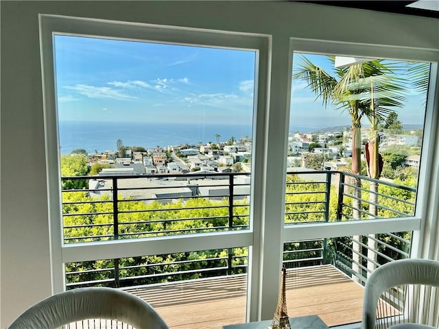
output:
[[173, 326], [213, 294], [217, 328], [272, 317], [285, 266], [290, 315], [339, 325], [414, 253], [428, 56], [44, 15], [42, 34], [54, 291], [158, 291]]

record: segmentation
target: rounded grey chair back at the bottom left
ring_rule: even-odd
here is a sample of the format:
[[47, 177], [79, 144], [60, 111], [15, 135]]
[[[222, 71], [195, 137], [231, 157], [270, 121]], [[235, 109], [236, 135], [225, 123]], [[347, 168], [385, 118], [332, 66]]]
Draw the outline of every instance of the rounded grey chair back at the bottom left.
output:
[[[90, 323], [96, 326], [98, 322], [95, 328], [106, 328], [105, 325], [120, 328], [120, 324], [128, 324], [137, 329], [168, 329], [156, 310], [140, 297], [105, 287], [78, 288], [48, 297], [25, 310], [8, 328], [51, 329], [65, 325], [71, 328], [70, 324], [85, 319], [93, 321], [82, 321], [80, 328], [85, 329]], [[114, 322], [99, 319], [119, 322], [114, 327]]]

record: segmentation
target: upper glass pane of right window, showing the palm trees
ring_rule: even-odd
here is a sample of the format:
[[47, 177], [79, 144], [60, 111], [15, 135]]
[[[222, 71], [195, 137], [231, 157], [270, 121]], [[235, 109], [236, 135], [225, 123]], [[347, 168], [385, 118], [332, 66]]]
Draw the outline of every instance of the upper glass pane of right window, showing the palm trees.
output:
[[285, 222], [413, 216], [429, 63], [294, 53]]

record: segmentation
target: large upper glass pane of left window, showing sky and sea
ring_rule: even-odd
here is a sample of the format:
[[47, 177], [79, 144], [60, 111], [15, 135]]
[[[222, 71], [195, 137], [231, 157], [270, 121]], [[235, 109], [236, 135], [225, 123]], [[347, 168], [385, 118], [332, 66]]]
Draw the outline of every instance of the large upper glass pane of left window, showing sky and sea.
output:
[[65, 243], [248, 228], [255, 51], [54, 47]]

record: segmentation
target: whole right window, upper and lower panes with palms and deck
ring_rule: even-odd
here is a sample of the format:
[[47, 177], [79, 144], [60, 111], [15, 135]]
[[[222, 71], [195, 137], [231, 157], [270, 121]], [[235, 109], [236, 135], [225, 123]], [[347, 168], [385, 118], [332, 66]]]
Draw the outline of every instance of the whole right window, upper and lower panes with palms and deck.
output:
[[350, 324], [361, 321], [359, 287], [410, 257], [420, 225], [430, 63], [306, 52], [292, 63], [283, 260], [289, 300], [303, 297], [289, 309]]

